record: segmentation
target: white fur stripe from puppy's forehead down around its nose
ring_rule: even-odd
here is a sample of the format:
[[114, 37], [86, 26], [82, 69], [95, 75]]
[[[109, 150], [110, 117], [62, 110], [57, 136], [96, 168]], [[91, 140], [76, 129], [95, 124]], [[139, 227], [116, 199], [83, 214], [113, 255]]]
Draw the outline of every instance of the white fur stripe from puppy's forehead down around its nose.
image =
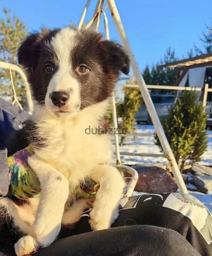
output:
[[77, 31], [65, 28], [60, 30], [54, 38], [51, 39], [51, 47], [57, 56], [57, 70], [52, 76], [45, 98], [45, 103], [49, 109], [53, 108], [50, 99], [52, 92], [64, 91], [70, 93], [70, 98], [66, 103], [66, 109], [73, 111], [75, 106], [80, 103], [80, 84], [77, 81], [72, 68], [71, 54], [76, 46]]

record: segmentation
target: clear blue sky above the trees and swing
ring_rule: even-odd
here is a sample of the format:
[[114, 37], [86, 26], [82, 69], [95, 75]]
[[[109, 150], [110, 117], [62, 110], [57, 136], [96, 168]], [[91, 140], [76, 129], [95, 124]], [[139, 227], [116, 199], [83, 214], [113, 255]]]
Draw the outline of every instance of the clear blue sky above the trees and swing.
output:
[[[95, 2], [92, 0], [89, 17]], [[0, 17], [3, 7], [7, 7], [29, 31], [38, 30], [43, 25], [63, 27], [70, 22], [78, 23], [85, 3], [86, 0], [2, 0]], [[211, 0], [117, 0], [116, 3], [141, 70], [146, 64], [160, 60], [168, 47], [172, 47], [178, 57], [187, 57], [187, 51], [194, 44], [201, 46], [201, 33], [205, 25], [212, 22]], [[110, 37], [120, 41], [110, 14], [108, 17]], [[103, 31], [103, 25], [100, 29]]]

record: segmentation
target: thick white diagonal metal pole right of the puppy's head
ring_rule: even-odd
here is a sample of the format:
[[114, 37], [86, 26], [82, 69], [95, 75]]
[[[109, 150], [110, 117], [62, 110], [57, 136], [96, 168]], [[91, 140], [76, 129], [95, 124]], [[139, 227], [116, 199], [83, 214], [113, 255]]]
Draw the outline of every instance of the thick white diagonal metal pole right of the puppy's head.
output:
[[169, 145], [169, 142], [165, 136], [163, 127], [161, 125], [161, 122], [157, 116], [157, 112], [155, 110], [154, 104], [152, 102], [151, 96], [148, 93], [146, 84], [144, 82], [144, 78], [143, 76], [140, 74], [140, 70], [137, 67], [137, 63], [136, 63], [136, 59], [133, 55], [133, 52], [130, 48], [130, 45], [128, 43], [126, 34], [125, 34], [125, 30], [123, 29], [123, 25], [116, 7], [116, 4], [114, 2], [114, 0], [108, 0], [108, 5], [111, 11], [111, 15], [112, 18], [114, 20], [114, 23], [116, 25], [116, 28], [118, 30], [119, 36], [123, 42], [123, 46], [125, 47], [125, 49], [127, 50], [129, 57], [130, 57], [130, 61], [131, 61], [131, 66], [133, 68], [133, 72], [134, 72], [134, 76], [138, 82], [138, 85], [140, 87], [140, 92], [142, 93], [144, 102], [146, 104], [147, 110], [149, 112], [149, 115], [151, 116], [153, 125], [155, 127], [155, 130], [157, 132], [158, 138], [160, 139], [163, 151], [167, 157], [167, 160], [170, 162], [170, 166], [172, 169], [172, 172], [174, 174], [174, 177], [176, 179], [176, 183], [178, 184], [178, 187], [180, 189], [181, 192], [183, 193], [188, 193], [187, 188], [185, 187], [185, 183], [183, 181], [182, 175], [180, 173], [178, 164], [176, 163], [176, 160], [174, 158], [174, 155], [172, 153], [172, 149]]

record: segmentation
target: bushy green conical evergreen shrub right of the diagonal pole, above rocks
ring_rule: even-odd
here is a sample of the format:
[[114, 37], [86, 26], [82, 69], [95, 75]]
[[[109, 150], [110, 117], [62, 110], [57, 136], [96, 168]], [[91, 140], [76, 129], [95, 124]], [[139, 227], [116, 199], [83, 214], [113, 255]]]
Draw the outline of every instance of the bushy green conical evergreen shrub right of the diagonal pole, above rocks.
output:
[[[185, 161], [200, 161], [207, 148], [208, 116], [197, 98], [196, 92], [183, 91], [178, 101], [169, 109], [169, 115], [162, 120], [166, 137], [181, 171]], [[157, 135], [155, 143], [162, 149]]]

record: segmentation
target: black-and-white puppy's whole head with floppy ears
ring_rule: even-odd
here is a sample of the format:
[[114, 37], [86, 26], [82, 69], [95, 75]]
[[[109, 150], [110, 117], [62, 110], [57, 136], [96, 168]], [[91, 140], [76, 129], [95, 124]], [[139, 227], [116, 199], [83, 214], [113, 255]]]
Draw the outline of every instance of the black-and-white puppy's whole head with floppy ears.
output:
[[18, 51], [34, 100], [57, 117], [72, 116], [107, 99], [129, 58], [101, 34], [70, 28], [30, 34]]

